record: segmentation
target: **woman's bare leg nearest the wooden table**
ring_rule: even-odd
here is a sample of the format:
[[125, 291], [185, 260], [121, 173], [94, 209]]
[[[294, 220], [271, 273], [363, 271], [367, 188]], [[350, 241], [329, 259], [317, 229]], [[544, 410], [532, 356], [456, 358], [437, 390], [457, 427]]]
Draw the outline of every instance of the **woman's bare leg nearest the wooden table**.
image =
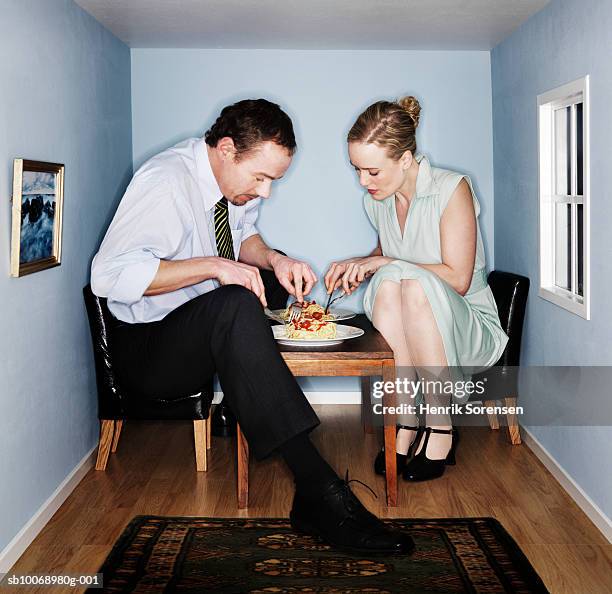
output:
[[[401, 376], [400, 379], [403, 380], [406, 378], [408, 381], [415, 379], [416, 372], [404, 335], [402, 323], [402, 294], [399, 283], [393, 281], [383, 281], [381, 283], [376, 292], [374, 310], [372, 312], [372, 323], [389, 343], [395, 358], [395, 367], [398, 376]], [[414, 404], [414, 400], [410, 398], [409, 394], [402, 394], [401, 396], [403, 396], [403, 398], [398, 398], [398, 404], [401, 402]], [[419, 424], [416, 414], [397, 415], [397, 422], [400, 425], [408, 425], [411, 427], [417, 427]], [[415, 431], [400, 429], [397, 432], [397, 452], [406, 454], [415, 437]]]

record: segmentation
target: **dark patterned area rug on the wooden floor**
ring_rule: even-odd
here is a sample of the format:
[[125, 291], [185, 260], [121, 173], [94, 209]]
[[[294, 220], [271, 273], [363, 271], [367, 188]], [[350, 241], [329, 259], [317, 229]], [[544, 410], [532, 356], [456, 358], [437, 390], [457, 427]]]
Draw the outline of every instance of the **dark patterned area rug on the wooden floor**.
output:
[[[428, 594], [547, 592], [497, 520], [387, 520], [407, 557], [341, 553], [286, 519], [138, 516], [102, 566], [105, 592]], [[92, 590], [100, 592], [100, 590]]]

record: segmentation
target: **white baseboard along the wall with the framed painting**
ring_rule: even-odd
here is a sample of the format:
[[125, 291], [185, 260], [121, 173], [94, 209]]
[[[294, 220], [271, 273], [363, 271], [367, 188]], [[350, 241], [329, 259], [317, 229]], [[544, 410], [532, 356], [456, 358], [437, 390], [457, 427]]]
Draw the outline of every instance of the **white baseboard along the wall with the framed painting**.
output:
[[89, 469], [94, 464], [94, 454], [98, 448], [96, 444], [81, 461], [72, 469], [70, 474], [62, 481], [53, 494], [45, 501], [38, 511], [30, 518], [27, 524], [16, 534], [15, 538], [6, 545], [0, 553], [0, 574], [7, 573], [17, 562], [23, 552], [30, 546], [39, 532], [46, 526], [53, 514], [66, 501], [68, 495], [74, 491]]

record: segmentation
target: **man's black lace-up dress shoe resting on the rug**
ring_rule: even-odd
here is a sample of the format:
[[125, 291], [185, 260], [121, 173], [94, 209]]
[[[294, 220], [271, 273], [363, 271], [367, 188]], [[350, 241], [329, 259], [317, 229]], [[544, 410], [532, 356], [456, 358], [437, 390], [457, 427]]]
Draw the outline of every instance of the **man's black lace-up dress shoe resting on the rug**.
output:
[[348, 482], [339, 478], [318, 497], [296, 491], [289, 518], [294, 530], [318, 536], [349, 553], [407, 555], [414, 550], [408, 534], [387, 527], [355, 497]]

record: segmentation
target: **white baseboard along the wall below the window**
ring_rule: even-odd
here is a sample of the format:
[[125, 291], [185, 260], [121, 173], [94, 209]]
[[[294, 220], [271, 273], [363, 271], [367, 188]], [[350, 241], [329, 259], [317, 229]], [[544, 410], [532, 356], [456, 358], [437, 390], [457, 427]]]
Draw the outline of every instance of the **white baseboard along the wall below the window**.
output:
[[546, 466], [565, 492], [575, 501], [576, 505], [588, 516], [589, 520], [595, 524], [597, 529], [612, 544], [612, 520], [610, 520], [599, 506], [582, 490], [529, 429], [521, 425], [521, 434], [523, 441], [529, 446], [529, 449], [536, 455], [540, 462]]

